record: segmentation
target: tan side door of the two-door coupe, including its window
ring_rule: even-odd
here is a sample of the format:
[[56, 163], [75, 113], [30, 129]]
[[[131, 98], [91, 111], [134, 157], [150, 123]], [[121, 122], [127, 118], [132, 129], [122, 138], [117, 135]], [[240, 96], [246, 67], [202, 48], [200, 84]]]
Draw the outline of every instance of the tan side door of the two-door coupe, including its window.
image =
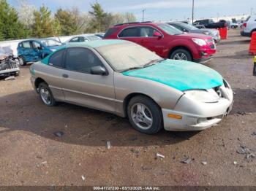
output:
[[62, 74], [65, 101], [93, 109], [114, 112], [113, 71], [108, 70], [108, 75], [104, 76], [91, 74], [91, 67], [94, 66], [105, 67], [94, 50], [84, 47], [70, 47], [67, 49], [66, 70]]

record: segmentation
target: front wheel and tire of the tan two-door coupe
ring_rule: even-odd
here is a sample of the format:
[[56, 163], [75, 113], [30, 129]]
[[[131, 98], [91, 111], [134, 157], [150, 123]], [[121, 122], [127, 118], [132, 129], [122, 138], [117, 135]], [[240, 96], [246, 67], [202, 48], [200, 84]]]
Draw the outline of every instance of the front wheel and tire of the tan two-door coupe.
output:
[[155, 134], [162, 129], [162, 111], [146, 96], [132, 98], [127, 107], [127, 115], [132, 127], [141, 133]]

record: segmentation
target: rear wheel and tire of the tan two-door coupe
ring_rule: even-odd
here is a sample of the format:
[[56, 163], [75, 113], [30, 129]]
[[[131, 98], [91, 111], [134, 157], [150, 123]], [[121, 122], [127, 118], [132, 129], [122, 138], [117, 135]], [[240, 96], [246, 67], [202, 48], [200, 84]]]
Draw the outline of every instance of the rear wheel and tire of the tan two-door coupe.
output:
[[42, 82], [39, 84], [39, 97], [46, 106], [55, 106], [56, 101], [53, 98], [53, 93], [50, 90], [50, 87], [45, 83]]

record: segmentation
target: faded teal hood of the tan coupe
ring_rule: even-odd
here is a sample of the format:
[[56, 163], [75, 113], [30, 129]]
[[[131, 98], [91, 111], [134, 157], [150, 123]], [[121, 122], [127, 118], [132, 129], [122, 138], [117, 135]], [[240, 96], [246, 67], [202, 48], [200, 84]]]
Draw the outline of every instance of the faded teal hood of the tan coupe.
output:
[[181, 91], [208, 90], [223, 85], [223, 78], [217, 71], [189, 61], [165, 60], [143, 69], [124, 71], [122, 74], [149, 79]]

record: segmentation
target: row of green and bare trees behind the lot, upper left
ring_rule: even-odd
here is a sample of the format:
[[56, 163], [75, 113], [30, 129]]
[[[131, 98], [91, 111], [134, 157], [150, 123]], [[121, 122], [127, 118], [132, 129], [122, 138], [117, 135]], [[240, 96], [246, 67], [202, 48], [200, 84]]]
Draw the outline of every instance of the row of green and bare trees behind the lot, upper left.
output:
[[129, 12], [105, 12], [95, 2], [91, 11], [83, 13], [77, 7], [57, 9], [53, 14], [49, 7], [38, 9], [28, 1], [19, 1], [17, 9], [6, 0], [0, 0], [0, 40], [44, 38], [49, 36], [68, 36], [74, 34], [105, 32], [117, 23], [136, 21]]

